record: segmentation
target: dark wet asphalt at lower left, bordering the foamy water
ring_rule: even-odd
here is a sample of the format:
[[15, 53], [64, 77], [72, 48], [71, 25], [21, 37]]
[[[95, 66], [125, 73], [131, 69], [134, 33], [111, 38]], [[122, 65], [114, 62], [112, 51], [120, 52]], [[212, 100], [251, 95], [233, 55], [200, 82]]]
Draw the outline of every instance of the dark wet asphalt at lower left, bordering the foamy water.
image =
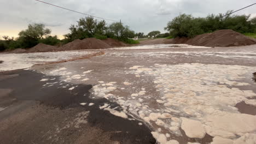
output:
[[[1, 143], [155, 143], [146, 125], [98, 109], [111, 102], [89, 99], [91, 85], [42, 88], [42, 77], [31, 70], [1, 74]], [[94, 105], [80, 105], [85, 101]]]

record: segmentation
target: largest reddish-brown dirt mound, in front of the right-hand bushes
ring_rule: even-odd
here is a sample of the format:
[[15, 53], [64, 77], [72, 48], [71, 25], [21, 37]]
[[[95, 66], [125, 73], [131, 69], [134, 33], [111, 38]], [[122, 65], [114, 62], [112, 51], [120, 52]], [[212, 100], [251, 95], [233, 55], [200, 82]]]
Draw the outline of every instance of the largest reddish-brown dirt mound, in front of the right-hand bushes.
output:
[[194, 38], [176, 38], [174, 44], [189, 44], [209, 47], [253, 45], [256, 41], [231, 29], [223, 29], [213, 33], [197, 35]]

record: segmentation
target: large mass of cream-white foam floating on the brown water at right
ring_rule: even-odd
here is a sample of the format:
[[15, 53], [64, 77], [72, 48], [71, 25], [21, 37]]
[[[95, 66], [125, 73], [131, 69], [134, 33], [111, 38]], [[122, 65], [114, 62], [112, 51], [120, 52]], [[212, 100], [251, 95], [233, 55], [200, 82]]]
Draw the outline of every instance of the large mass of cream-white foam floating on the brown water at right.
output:
[[[240, 80], [254, 71], [254, 67], [240, 65], [186, 63], [156, 64], [150, 68], [135, 65], [125, 73], [151, 77], [160, 95], [138, 91], [121, 99], [118, 95], [105, 93], [105, 98], [115, 101], [155, 131], [165, 128], [165, 131], [181, 136], [179, 128], [182, 128], [189, 137], [202, 138], [207, 133], [236, 140], [235, 135], [254, 134], [256, 130], [256, 116], [241, 114], [235, 107], [256, 96], [253, 91], [238, 88], [251, 85]], [[129, 85], [126, 88], [142, 89]], [[153, 100], [158, 104], [156, 107], [148, 103]], [[161, 131], [154, 135], [160, 143], [170, 141], [170, 137]]]

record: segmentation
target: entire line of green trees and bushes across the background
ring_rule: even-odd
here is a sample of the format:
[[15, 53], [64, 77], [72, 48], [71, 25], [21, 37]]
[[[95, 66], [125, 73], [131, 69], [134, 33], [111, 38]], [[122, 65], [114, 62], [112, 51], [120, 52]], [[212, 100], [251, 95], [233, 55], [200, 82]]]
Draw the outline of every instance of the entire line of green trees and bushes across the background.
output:
[[[228, 11], [226, 14], [229, 14]], [[144, 33], [135, 33], [128, 26], [121, 22], [113, 22], [107, 25], [106, 21], [97, 21], [93, 17], [85, 17], [77, 21], [77, 25], [69, 27], [69, 33], [63, 35], [65, 39], [58, 39], [57, 36], [51, 36], [51, 30], [45, 28], [43, 24], [33, 23], [28, 25], [27, 29], [19, 33], [18, 38], [3, 36], [0, 40], [0, 51], [5, 49], [30, 48], [38, 43], [48, 45], [63, 45], [75, 39], [113, 38], [124, 41], [127, 44], [139, 43], [131, 38], [173, 38], [173, 37], [195, 37], [195, 35], [210, 33], [219, 29], [232, 29], [236, 32], [253, 35], [256, 33], [256, 17], [249, 19], [250, 15], [208, 15], [207, 17], [193, 17], [192, 15], [180, 14], [167, 23], [165, 29], [168, 33], [161, 34], [160, 31], [152, 31], [147, 35]], [[1, 39], [1, 38], [0, 38]]]

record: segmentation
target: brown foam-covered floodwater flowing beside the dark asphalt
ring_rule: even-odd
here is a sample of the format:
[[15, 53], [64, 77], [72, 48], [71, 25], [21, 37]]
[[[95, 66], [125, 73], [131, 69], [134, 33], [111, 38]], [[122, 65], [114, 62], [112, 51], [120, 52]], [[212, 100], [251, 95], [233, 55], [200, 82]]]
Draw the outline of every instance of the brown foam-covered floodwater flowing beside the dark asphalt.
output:
[[[214, 49], [146, 47], [149, 49], [106, 50], [105, 55], [91, 59], [38, 65], [32, 69], [45, 75], [60, 76], [60, 81], [72, 85], [66, 87], [46, 80], [44, 87], [59, 85], [67, 90], [71, 88], [68, 91], [72, 92], [72, 87], [92, 85], [90, 99], [108, 100], [98, 103], [95, 109], [114, 116], [127, 116], [129, 121], [136, 119], [139, 125], [153, 131], [160, 143], [173, 140], [209, 143], [217, 136], [238, 141], [246, 136], [245, 133], [253, 134], [254, 130], [243, 129], [248, 126], [247, 120], [253, 119], [250, 116], [255, 110], [255, 106], [243, 102], [253, 99], [256, 93], [252, 81], [256, 50], [252, 46]], [[171, 94], [166, 95], [168, 93]], [[232, 133], [224, 129], [221, 132], [226, 135], [219, 135], [220, 131], [209, 121], [216, 122], [216, 117], [223, 119], [219, 123], [225, 127], [228, 124], [224, 121], [226, 117], [221, 116], [228, 116], [234, 125], [233, 119], [243, 117], [244, 122], [238, 123], [239, 127]], [[188, 129], [182, 127], [183, 118], [202, 125], [197, 135], [191, 136]], [[211, 130], [205, 130], [206, 127]]]

